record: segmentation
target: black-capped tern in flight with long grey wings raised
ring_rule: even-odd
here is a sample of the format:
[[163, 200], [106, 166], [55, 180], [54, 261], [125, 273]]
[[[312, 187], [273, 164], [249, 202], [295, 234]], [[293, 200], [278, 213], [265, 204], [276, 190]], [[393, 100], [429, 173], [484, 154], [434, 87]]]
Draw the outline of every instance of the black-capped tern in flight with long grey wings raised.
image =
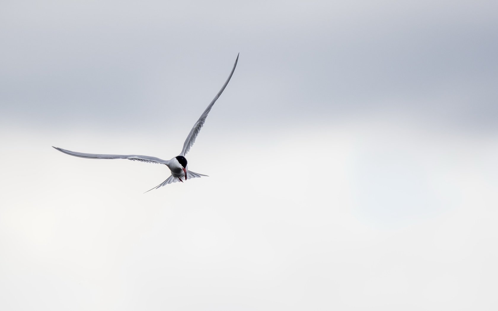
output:
[[[164, 164], [166, 165], [169, 170], [171, 171], [171, 176], [168, 177], [165, 181], [157, 185], [156, 187], [152, 189], [157, 189], [159, 187], [171, 184], [171, 183], [176, 183], [176, 182], [182, 182], [187, 179], [191, 178], [196, 178], [196, 177], [201, 177], [201, 176], [207, 176], [199, 173], [192, 172], [188, 169], [187, 166], [187, 159], [185, 158], [185, 155], [187, 152], [189, 152], [190, 147], [195, 142], [195, 139], [197, 138], [197, 135], [199, 134], [201, 127], [204, 125], [204, 122], [206, 121], [206, 117], [208, 116], [209, 111], [211, 111], [211, 108], [215, 104], [216, 100], [220, 97], [220, 95], [223, 93], [223, 90], [227, 87], [230, 79], [232, 78], [232, 75], [234, 74], [235, 67], [237, 66], [237, 62], [239, 61], [239, 54], [237, 54], [237, 59], [235, 60], [234, 68], [232, 68], [232, 72], [230, 73], [230, 76], [228, 76], [227, 81], [221, 88], [220, 92], [215, 96], [213, 101], [208, 105], [206, 110], [201, 114], [201, 117], [195, 122], [194, 127], [190, 130], [190, 133], [187, 136], [187, 139], [185, 139], [185, 142], [183, 143], [183, 149], [180, 155], [172, 158], [171, 160], [162, 160], [156, 157], [150, 157], [150, 156], [143, 156], [143, 155], [119, 155], [119, 154], [93, 154], [93, 153], [82, 153], [82, 152], [75, 152], [75, 151], [69, 151], [65, 150], [62, 148], [57, 148], [54, 147], [55, 149], [67, 153], [69, 155], [75, 156], [75, 157], [80, 157], [80, 158], [87, 158], [87, 159], [128, 159], [132, 161], [141, 161], [141, 162], [147, 162], [147, 163], [158, 163], [158, 164]], [[150, 190], [152, 190], [150, 189]], [[149, 192], [150, 190], [146, 191]]]

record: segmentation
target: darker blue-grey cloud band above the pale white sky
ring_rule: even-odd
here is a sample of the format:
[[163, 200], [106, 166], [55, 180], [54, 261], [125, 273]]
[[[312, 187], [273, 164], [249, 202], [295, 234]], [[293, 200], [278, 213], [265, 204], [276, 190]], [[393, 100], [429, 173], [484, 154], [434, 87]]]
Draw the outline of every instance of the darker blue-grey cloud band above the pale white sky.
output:
[[6, 4], [2, 115], [160, 122], [209, 103], [241, 52], [225, 96], [250, 119], [387, 109], [496, 123], [494, 1], [147, 3]]

